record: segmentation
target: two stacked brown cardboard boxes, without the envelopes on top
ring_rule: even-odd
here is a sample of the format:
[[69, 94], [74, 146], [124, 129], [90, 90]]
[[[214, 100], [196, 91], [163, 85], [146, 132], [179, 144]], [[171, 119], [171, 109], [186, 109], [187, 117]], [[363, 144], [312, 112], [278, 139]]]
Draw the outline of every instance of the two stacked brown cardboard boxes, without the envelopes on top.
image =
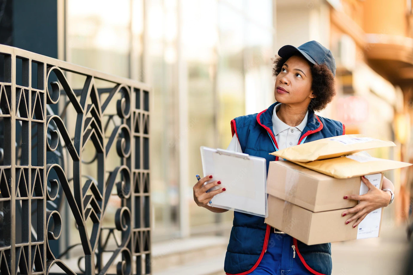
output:
[[[383, 173], [366, 178], [378, 188], [382, 187]], [[293, 162], [270, 162], [265, 222], [309, 245], [378, 237], [382, 209], [373, 214], [379, 216], [375, 228], [353, 228], [352, 223], [345, 224], [351, 215], [341, 215], [345, 208], [357, 204], [355, 200], [344, 200], [344, 195], [359, 194], [362, 185], [359, 176], [335, 179]]]

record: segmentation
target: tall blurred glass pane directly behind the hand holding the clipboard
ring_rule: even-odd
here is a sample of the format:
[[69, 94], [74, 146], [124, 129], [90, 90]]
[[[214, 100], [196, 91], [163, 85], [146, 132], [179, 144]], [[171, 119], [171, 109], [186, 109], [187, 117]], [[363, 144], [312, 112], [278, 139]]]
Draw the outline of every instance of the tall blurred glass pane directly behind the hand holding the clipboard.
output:
[[[183, 1], [183, 60], [188, 87], [188, 190], [203, 176], [200, 146], [216, 147], [216, 2]], [[185, 81], [185, 80], [184, 80]], [[216, 214], [198, 207], [190, 195], [190, 226], [215, 223]]]

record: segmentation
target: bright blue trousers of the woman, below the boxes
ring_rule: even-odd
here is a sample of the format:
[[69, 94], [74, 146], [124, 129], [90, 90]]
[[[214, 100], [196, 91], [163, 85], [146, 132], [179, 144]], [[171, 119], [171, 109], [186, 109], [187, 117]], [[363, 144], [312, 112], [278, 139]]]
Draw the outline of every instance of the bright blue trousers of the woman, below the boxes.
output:
[[249, 275], [306, 275], [312, 274], [301, 263], [293, 248], [293, 238], [287, 234], [270, 233], [267, 252]]

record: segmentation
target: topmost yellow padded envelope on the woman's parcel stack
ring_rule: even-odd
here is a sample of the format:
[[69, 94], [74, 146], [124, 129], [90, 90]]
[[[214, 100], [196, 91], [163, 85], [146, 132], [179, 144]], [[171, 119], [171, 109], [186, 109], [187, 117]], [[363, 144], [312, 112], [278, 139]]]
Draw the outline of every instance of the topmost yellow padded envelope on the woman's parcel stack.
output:
[[392, 141], [373, 139], [363, 134], [350, 134], [318, 139], [271, 153], [292, 162], [325, 160], [351, 155], [363, 150], [396, 146]]

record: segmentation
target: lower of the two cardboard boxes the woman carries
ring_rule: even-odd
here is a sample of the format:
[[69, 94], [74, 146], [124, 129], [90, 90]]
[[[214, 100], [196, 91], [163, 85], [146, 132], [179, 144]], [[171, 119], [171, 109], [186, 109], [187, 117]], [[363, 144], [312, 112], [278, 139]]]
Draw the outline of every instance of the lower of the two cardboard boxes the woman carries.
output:
[[[342, 212], [344, 209], [311, 212], [268, 195], [268, 217], [265, 219], [265, 223], [308, 245], [380, 236], [382, 208], [370, 213], [375, 215], [376, 219], [380, 217], [379, 223], [374, 223], [376, 225], [374, 227], [371, 226], [372, 219], [367, 219], [367, 216], [358, 227], [353, 228], [354, 222], [345, 224], [345, 221], [351, 216], [343, 217], [341, 216]], [[361, 226], [362, 224], [364, 226]]]

